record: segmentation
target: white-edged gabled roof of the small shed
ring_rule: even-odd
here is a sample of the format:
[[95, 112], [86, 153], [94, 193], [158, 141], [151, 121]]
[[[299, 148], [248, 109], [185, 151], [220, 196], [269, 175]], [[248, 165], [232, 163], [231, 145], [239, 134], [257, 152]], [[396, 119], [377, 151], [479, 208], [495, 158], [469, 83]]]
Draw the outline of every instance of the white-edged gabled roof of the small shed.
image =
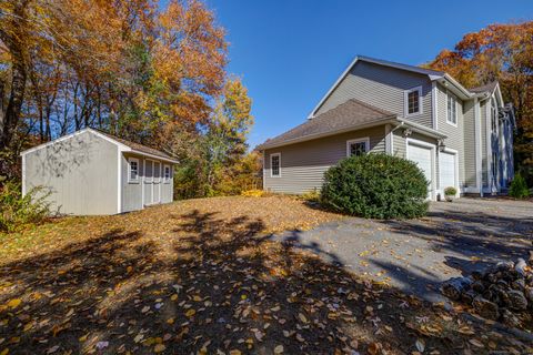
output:
[[154, 159], [161, 159], [161, 160], [164, 160], [164, 161], [168, 161], [168, 162], [171, 162], [171, 163], [178, 163], [178, 161], [174, 160], [172, 156], [170, 156], [169, 154], [163, 153], [161, 151], [158, 151], [157, 149], [153, 149], [153, 148], [150, 148], [150, 146], [147, 146], [147, 145], [142, 145], [142, 144], [139, 144], [139, 143], [134, 143], [134, 142], [131, 142], [131, 141], [128, 141], [128, 140], [123, 140], [121, 138], [118, 138], [118, 136], [114, 136], [112, 134], [101, 132], [101, 131], [98, 131], [98, 130], [94, 130], [94, 129], [91, 129], [91, 128], [86, 128], [86, 129], [77, 131], [74, 133], [63, 135], [63, 136], [61, 136], [57, 140], [53, 140], [53, 141], [33, 146], [29, 150], [23, 151], [20, 155], [24, 155], [24, 154], [28, 154], [30, 152], [38, 151], [38, 150], [43, 149], [46, 146], [56, 144], [56, 143], [61, 142], [61, 141], [69, 140], [71, 138], [74, 138], [74, 136], [77, 136], [79, 134], [82, 134], [82, 133], [86, 133], [86, 132], [95, 134], [95, 135], [111, 142], [113, 144], [117, 144], [122, 152], [138, 153], [140, 155], [154, 158]]

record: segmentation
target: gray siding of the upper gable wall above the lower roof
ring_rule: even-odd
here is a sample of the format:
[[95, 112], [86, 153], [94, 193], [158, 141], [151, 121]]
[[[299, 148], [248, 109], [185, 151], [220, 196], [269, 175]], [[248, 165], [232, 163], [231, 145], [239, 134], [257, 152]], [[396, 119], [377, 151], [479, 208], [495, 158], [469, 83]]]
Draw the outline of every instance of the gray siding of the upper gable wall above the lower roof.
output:
[[422, 87], [422, 114], [409, 120], [432, 126], [431, 81], [426, 75], [359, 61], [319, 108], [316, 114], [358, 99], [404, 116], [404, 91]]

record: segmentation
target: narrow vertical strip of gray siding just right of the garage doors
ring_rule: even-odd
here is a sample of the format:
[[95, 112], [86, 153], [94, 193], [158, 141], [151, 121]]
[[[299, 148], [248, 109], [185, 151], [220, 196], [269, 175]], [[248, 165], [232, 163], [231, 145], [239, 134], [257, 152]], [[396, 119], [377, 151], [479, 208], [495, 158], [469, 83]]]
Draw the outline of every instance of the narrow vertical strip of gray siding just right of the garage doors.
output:
[[465, 101], [464, 119], [464, 186], [477, 187], [475, 168], [475, 116], [474, 100]]

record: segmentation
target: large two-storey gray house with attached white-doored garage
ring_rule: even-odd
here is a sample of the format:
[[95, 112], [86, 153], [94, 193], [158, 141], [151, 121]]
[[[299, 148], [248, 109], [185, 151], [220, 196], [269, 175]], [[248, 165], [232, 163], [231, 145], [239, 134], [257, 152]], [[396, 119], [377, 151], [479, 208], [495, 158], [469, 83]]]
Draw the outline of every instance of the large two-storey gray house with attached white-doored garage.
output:
[[447, 186], [497, 193], [513, 179], [514, 128], [497, 82], [466, 89], [444, 72], [356, 57], [304, 123], [258, 148], [263, 187], [320, 190], [339, 160], [381, 152], [414, 161], [432, 200]]

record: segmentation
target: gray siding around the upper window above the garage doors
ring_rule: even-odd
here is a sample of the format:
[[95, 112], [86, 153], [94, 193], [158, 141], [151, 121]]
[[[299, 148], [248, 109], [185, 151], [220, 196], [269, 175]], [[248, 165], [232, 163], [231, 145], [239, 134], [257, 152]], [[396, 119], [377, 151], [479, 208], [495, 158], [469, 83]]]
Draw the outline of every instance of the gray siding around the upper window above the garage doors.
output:
[[[453, 95], [457, 102], [457, 124], [456, 126], [447, 123], [447, 95]], [[438, 128], [439, 132], [447, 135], [445, 140], [446, 148], [457, 151], [459, 159], [459, 186], [464, 185], [464, 114], [463, 114], [463, 101], [455, 97], [453, 93], [447, 92], [442, 85], [438, 85]], [[439, 175], [440, 176], [440, 175]], [[439, 179], [438, 179], [439, 180]], [[441, 186], [439, 182], [439, 189]]]

